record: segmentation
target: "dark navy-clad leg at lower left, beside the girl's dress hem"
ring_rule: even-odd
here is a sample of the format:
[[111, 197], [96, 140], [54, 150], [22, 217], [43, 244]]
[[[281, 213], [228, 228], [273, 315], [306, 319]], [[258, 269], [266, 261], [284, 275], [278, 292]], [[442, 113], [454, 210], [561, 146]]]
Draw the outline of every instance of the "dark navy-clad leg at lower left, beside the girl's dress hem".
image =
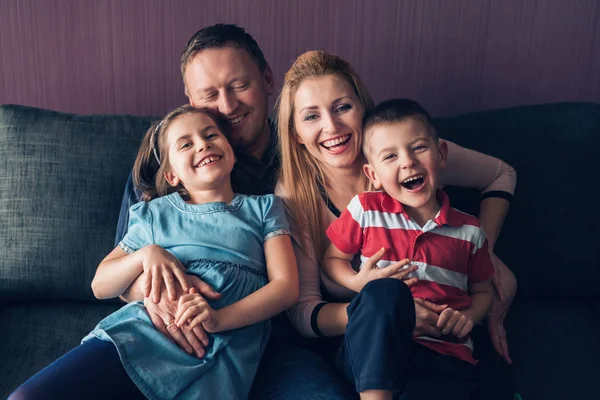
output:
[[18, 399], [143, 399], [123, 369], [115, 345], [81, 344], [29, 378], [10, 397]]

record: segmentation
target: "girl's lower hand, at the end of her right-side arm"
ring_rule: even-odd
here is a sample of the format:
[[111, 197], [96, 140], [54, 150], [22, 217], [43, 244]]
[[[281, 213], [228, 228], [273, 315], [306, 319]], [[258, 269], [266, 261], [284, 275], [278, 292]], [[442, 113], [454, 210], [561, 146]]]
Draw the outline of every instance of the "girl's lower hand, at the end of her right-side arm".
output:
[[209, 306], [195, 288], [191, 288], [189, 294], [179, 298], [175, 324], [181, 328], [186, 321], [189, 323], [182, 328], [184, 331], [192, 330], [199, 324], [202, 324], [207, 332], [215, 332], [219, 327], [218, 311]]

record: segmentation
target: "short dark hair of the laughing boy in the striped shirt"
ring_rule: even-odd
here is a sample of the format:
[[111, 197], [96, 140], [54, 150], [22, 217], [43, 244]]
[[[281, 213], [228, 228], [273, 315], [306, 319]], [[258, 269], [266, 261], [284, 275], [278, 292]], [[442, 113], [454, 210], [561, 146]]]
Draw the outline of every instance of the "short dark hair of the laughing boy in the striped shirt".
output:
[[410, 99], [391, 99], [382, 101], [365, 113], [363, 120], [363, 153], [369, 150], [369, 131], [376, 126], [392, 125], [409, 118], [422, 122], [429, 135], [437, 142], [438, 136], [429, 113], [416, 101]]

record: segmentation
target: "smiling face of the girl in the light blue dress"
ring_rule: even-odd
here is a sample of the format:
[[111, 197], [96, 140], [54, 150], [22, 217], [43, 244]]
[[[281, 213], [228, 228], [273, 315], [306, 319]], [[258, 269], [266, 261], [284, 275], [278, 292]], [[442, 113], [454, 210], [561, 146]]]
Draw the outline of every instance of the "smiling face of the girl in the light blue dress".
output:
[[225, 135], [208, 115], [190, 113], [173, 120], [166, 132], [172, 186], [182, 184], [190, 194], [214, 190], [229, 181], [235, 156]]

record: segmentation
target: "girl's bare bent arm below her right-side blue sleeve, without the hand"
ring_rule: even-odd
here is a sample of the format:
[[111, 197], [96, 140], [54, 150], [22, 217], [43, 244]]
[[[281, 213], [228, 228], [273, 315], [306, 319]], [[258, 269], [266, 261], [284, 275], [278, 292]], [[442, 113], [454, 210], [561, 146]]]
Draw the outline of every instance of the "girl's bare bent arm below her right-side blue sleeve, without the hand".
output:
[[269, 283], [242, 300], [217, 310], [216, 324], [208, 331], [221, 332], [264, 321], [298, 300], [298, 267], [290, 237], [279, 235], [267, 239], [264, 248]]

